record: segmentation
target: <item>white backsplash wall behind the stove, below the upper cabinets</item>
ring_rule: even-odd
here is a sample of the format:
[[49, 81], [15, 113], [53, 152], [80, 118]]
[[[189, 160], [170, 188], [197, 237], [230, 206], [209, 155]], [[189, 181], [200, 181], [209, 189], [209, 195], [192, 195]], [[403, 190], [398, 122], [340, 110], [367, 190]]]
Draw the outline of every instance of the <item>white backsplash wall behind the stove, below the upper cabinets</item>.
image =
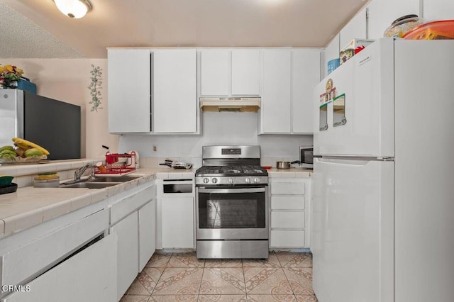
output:
[[260, 145], [262, 157], [299, 158], [299, 146], [312, 145], [312, 135], [258, 135], [259, 113], [201, 114], [202, 135], [121, 135], [118, 151], [137, 150], [141, 158], [184, 158], [201, 157], [204, 145]]

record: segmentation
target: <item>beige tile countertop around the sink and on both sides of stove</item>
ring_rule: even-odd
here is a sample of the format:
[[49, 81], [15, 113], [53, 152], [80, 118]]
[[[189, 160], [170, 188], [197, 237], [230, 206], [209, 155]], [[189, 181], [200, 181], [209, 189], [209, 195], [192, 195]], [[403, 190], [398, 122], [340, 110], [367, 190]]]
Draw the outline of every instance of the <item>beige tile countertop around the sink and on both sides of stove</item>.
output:
[[[0, 238], [65, 215], [156, 178], [192, 179], [195, 171], [196, 169], [167, 167], [140, 168], [137, 172], [130, 174], [131, 176], [141, 176], [140, 178], [104, 189], [34, 188], [33, 186], [18, 188], [15, 193], [0, 195]], [[309, 178], [311, 173], [311, 170], [297, 168], [268, 170], [269, 176], [276, 178]]]

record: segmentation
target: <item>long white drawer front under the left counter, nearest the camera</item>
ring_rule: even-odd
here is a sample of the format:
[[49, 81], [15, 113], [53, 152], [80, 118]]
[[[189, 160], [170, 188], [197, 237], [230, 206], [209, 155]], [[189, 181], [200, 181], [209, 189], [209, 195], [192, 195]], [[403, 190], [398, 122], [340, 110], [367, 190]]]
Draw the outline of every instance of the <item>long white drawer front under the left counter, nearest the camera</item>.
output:
[[20, 284], [44, 272], [108, 226], [109, 211], [103, 209], [2, 255], [1, 284]]

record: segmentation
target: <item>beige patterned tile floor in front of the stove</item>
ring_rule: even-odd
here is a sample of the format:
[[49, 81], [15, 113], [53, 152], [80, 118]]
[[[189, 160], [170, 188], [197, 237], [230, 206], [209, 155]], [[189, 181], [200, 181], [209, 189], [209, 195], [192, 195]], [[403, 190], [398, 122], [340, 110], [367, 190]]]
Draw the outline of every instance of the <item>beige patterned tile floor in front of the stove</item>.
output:
[[270, 252], [268, 259], [196, 259], [194, 252], [157, 253], [121, 302], [317, 301], [312, 255]]

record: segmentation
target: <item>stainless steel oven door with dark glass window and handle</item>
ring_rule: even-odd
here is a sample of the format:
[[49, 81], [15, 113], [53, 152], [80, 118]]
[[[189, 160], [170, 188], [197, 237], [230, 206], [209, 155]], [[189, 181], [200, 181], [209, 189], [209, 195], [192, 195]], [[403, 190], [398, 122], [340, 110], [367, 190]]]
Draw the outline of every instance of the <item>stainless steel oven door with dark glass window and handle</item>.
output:
[[197, 240], [268, 239], [268, 187], [196, 187]]

